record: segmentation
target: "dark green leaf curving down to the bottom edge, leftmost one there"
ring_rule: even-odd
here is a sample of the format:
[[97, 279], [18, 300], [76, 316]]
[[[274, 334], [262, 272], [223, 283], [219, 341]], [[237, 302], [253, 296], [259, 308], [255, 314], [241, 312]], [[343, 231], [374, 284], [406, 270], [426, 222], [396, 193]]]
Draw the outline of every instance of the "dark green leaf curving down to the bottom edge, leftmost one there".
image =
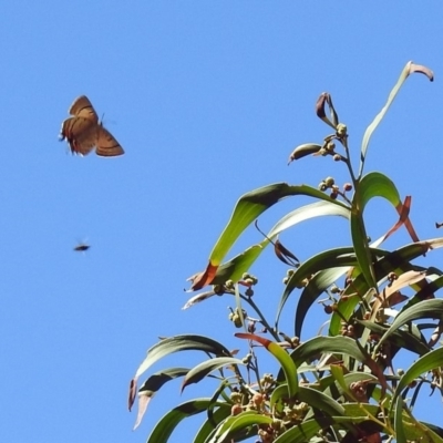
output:
[[[154, 430], [147, 439], [147, 443], [167, 443], [169, 436], [182, 420], [205, 412], [209, 405], [210, 399], [195, 399], [174, 408], [154, 426]], [[218, 405], [220, 408], [227, 408], [230, 412], [230, 408], [226, 403], [220, 403]]]

